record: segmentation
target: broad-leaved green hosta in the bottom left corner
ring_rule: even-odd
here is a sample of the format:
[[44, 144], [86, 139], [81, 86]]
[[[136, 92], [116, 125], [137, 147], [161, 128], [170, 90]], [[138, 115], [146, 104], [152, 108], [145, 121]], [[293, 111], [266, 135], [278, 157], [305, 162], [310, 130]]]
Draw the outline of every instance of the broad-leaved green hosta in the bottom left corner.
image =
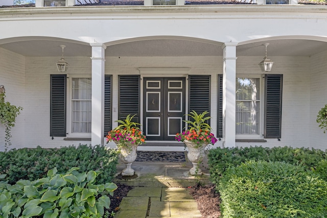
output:
[[110, 206], [108, 195], [117, 186], [96, 184], [99, 172], [79, 173], [78, 169], [59, 174], [53, 168], [48, 177], [19, 180], [14, 185], [0, 182], [0, 217], [103, 217], [104, 208]]

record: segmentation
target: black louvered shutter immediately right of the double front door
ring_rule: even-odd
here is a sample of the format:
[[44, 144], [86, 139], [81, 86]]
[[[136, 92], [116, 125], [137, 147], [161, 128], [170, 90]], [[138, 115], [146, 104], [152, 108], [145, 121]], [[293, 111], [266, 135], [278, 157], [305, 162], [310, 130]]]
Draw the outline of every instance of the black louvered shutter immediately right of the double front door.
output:
[[[208, 111], [210, 116], [210, 76], [189, 76], [189, 113]], [[210, 124], [210, 122], [209, 122]]]

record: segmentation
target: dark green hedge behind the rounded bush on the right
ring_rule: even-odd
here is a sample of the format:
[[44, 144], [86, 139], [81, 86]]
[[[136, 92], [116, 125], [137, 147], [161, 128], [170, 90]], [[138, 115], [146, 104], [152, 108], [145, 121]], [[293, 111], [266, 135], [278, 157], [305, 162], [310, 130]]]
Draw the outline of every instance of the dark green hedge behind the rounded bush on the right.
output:
[[327, 160], [327, 154], [317, 149], [291, 147], [217, 148], [208, 152], [209, 171], [214, 181], [228, 167], [238, 166], [248, 160], [279, 161], [315, 169], [319, 161]]

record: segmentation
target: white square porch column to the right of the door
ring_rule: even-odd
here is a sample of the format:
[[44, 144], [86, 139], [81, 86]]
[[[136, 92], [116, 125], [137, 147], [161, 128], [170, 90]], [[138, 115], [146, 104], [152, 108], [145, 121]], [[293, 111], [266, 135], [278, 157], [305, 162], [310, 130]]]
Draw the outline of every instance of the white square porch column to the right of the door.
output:
[[236, 46], [232, 42], [223, 45], [223, 147], [235, 147]]

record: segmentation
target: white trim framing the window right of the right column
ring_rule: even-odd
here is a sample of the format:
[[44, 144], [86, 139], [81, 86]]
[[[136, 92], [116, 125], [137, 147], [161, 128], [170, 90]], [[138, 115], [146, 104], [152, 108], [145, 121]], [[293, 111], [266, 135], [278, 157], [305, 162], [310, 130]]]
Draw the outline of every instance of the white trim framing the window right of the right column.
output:
[[[236, 75], [236, 78], [259, 78], [260, 79], [260, 118], [259, 118], [259, 134], [257, 135], [246, 135], [246, 134], [236, 134], [236, 139], [263, 139], [264, 138], [264, 97], [265, 97], [265, 80], [264, 75], [251, 75], [251, 74], [242, 74], [242, 75]], [[236, 91], [236, 90], [235, 90]], [[236, 104], [236, 102], [235, 102]], [[236, 124], [235, 124], [236, 125]], [[236, 128], [236, 126], [235, 126]]]

